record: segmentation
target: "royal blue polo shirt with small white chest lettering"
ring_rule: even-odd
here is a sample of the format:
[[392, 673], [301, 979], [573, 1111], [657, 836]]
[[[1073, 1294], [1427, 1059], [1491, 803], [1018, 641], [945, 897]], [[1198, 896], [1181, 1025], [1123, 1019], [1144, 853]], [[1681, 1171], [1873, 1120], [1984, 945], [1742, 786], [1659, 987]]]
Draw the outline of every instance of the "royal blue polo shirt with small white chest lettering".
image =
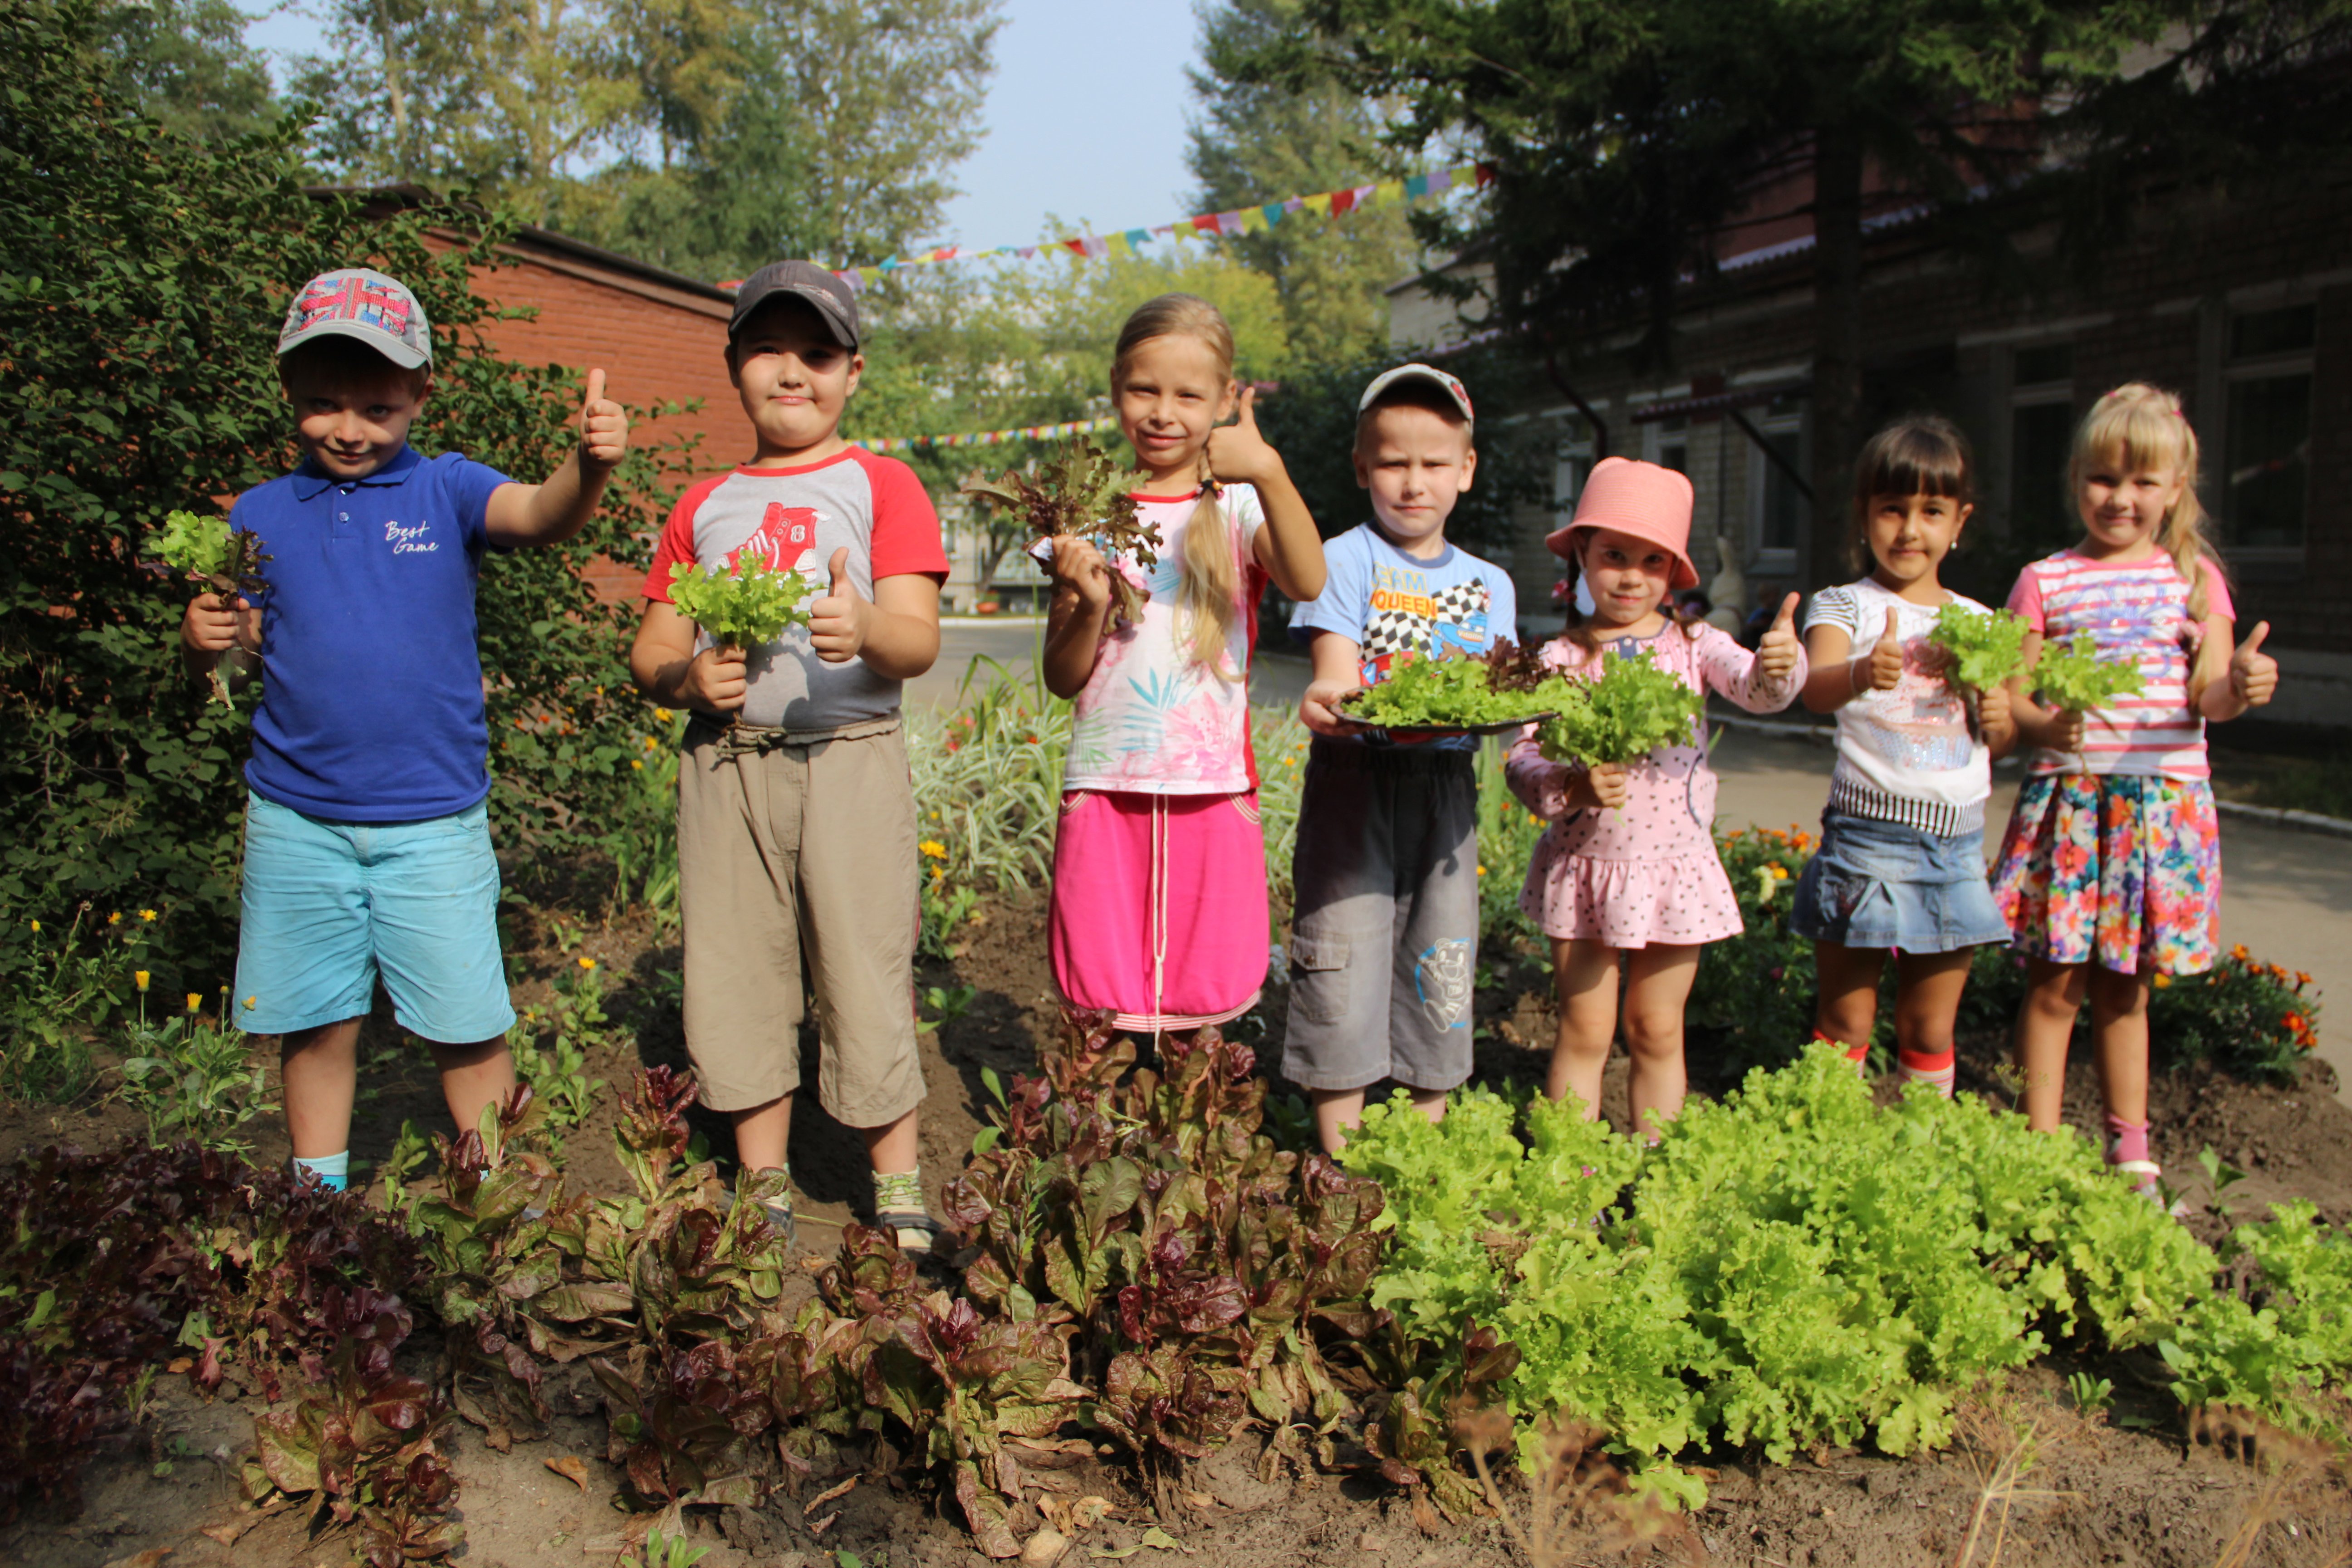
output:
[[238, 496], [261, 536], [261, 708], [245, 783], [336, 823], [414, 823], [489, 795], [473, 588], [496, 468], [414, 447], [365, 480], [308, 463]]

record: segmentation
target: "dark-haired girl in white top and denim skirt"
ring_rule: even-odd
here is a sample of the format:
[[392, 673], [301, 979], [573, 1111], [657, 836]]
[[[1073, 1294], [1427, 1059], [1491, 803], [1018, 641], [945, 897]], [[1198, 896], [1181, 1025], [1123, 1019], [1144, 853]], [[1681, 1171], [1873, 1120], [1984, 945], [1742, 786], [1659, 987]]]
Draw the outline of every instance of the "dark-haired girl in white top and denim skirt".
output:
[[1969, 440], [1943, 418], [1879, 430], [1853, 465], [1853, 559], [1867, 550], [1872, 569], [1816, 592], [1806, 616], [1804, 705], [1837, 715], [1837, 769], [1790, 910], [1813, 943], [1816, 1037], [1863, 1065], [1891, 957], [1903, 1081], [1945, 1095], [1971, 950], [2009, 940], [1985, 886], [1992, 757], [2016, 743], [2009, 691], [1983, 693], [1971, 717], [1929, 642], [1945, 604], [1983, 609], [1936, 576], [1971, 498]]

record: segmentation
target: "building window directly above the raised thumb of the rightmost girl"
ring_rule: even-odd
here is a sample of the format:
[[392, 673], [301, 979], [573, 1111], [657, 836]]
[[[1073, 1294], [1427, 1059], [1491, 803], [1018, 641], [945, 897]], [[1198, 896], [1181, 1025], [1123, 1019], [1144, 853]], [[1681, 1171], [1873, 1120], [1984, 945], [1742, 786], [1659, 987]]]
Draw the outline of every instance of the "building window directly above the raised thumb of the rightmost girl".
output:
[[[2312, 306], [2256, 310], [2230, 322], [2223, 369], [2223, 531], [2237, 550], [2303, 550], [2312, 470]], [[2209, 491], [2211, 494], [2211, 491]]]

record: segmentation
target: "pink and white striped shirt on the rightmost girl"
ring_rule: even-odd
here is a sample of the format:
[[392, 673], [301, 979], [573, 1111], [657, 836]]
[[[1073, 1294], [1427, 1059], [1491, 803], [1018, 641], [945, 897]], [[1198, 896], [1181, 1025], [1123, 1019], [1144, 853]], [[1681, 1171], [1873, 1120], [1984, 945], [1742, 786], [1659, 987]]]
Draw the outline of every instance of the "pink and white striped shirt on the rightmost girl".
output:
[[[2199, 567], [2206, 614], [2234, 621], [2230, 585], [2211, 562]], [[2161, 550], [2136, 562], [2103, 562], [2060, 550], [2025, 567], [2009, 590], [2009, 609], [2049, 642], [2091, 632], [2100, 663], [2140, 665], [2140, 693], [2084, 715], [2082, 757], [2037, 750], [2032, 773], [2161, 773], [2211, 778], [2204, 715], [2190, 708], [2190, 668], [2204, 625], [2190, 616], [2190, 585]]]

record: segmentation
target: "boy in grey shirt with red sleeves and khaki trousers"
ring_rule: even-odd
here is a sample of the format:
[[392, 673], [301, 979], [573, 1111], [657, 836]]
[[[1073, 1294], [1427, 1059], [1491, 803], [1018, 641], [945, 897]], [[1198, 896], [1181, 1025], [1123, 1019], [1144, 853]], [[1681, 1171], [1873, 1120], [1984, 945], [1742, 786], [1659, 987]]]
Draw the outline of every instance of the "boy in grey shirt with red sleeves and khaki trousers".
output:
[[[790, 1229], [786, 1135], [800, 1088], [802, 959], [823, 1044], [816, 1095], [858, 1131], [875, 1222], [929, 1251], [915, 1107], [922, 1067], [908, 978], [920, 929], [915, 795], [898, 686], [938, 658], [938, 515], [906, 463], [849, 447], [856, 296], [807, 261], [736, 292], [727, 376], [757, 451], [689, 489], [644, 581], [637, 689], [691, 708], [677, 769], [677, 903], [687, 1053], [703, 1103]], [[670, 604], [670, 569], [743, 555], [830, 585], [809, 625], [717, 649]]]

